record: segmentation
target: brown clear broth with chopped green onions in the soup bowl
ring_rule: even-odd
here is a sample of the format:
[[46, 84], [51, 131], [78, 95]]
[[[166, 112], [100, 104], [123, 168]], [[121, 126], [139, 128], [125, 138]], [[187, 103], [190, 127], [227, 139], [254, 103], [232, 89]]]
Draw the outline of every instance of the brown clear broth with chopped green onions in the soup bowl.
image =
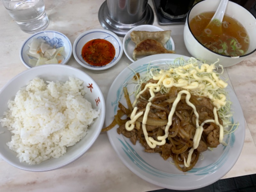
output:
[[[244, 55], [249, 47], [249, 36], [243, 25], [234, 18], [224, 15], [219, 34], [214, 27], [206, 28], [215, 12], [203, 12], [190, 22], [196, 39], [208, 49], [231, 57]], [[217, 23], [216, 23], [217, 24]]]

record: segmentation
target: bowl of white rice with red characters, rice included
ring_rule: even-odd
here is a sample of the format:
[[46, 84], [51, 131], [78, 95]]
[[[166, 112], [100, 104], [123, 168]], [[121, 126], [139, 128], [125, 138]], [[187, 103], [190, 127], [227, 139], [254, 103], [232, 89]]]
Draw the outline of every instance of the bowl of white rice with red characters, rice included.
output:
[[61, 168], [98, 138], [105, 100], [83, 71], [58, 64], [30, 68], [0, 91], [0, 157], [26, 171]]

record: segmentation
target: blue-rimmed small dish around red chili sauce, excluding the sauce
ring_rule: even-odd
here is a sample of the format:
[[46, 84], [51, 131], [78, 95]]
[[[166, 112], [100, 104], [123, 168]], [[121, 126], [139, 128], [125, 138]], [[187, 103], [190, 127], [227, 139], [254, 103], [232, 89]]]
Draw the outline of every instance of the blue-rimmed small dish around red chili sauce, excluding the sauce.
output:
[[[84, 44], [92, 39], [105, 39], [109, 41], [115, 48], [116, 54], [114, 59], [104, 66], [93, 66], [88, 64], [82, 57], [82, 49]], [[121, 59], [123, 54], [123, 44], [119, 37], [106, 29], [91, 29], [80, 34], [73, 45], [73, 55], [76, 61], [85, 68], [92, 70], [104, 70], [113, 67]]]

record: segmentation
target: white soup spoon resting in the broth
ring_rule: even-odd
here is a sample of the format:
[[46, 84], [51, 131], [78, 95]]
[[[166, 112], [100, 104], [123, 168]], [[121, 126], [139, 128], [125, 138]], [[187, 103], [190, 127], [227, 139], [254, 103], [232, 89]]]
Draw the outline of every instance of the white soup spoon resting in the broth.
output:
[[216, 34], [221, 34], [222, 33], [222, 20], [226, 11], [228, 5], [228, 0], [221, 0], [220, 4], [215, 12], [215, 14], [213, 15], [211, 21], [209, 22], [209, 24], [206, 26], [205, 29], [209, 28], [209, 29], [213, 29], [214, 31], [216, 31]]

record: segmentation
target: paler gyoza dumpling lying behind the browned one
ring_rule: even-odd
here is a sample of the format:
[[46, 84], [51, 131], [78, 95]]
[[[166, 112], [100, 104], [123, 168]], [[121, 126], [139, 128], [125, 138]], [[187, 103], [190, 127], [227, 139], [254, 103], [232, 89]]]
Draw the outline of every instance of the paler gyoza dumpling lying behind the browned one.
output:
[[137, 45], [145, 39], [155, 39], [162, 45], [170, 39], [171, 30], [169, 31], [132, 31], [130, 33], [132, 41]]

